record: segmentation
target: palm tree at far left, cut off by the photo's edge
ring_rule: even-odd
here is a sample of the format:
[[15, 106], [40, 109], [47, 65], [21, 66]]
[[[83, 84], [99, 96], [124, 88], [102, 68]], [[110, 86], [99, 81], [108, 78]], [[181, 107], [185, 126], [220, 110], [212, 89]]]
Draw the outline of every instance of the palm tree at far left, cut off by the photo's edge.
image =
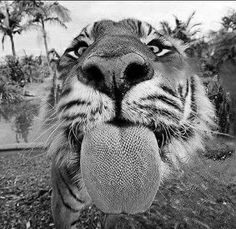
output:
[[2, 48], [4, 49], [5, 38], [8, 36], [14, 58], [16, 57], [14, 35], [27, 29], [27, 26], [22, 24], [24, 12], [24, 6], [19, 2], [0, 2], [0, 32], [3, 33]]

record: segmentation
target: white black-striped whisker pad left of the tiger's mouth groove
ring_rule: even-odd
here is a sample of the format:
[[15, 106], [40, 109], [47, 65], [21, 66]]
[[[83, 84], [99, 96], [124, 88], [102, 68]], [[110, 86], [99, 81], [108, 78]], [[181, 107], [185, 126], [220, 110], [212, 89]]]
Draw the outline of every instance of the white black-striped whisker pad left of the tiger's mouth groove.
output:
[[114, 102], [105, 94], [71, 79], [68, 94], [61, 97], [58, 104], [59, 119], [64, 126], [78, 131], [88, 131], [99, 123], [111, 120], [114, 115]]

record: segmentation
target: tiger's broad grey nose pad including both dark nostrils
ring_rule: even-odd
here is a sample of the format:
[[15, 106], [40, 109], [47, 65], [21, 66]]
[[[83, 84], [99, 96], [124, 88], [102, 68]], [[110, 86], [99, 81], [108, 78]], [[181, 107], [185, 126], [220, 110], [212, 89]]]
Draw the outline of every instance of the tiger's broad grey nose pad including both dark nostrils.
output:
[[142, 56], [129, 53], [110, 58], [91, 56], [83, 62], [82, 74], [86, 83], [98, 90], [128, 90], [150, 79], [153, 69]]

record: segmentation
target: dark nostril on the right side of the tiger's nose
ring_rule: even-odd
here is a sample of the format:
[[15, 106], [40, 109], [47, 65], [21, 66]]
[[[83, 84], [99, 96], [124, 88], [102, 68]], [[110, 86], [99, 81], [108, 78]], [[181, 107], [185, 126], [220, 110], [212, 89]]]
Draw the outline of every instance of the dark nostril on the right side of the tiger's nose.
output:
[[124, 77], [129, 83], [139, 83], [150, 78], [151, 69], [147, 64], [131, 63], [125, 71]]

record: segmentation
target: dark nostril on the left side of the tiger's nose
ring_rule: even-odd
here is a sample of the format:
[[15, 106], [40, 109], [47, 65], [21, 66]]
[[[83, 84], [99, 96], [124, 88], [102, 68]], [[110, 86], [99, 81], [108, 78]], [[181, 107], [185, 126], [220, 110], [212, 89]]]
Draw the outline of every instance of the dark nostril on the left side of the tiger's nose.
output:
[[88, 83], [98, 85], [104, 81], [104, 75], [98, 66], [90, 64], [82, 68], [84, 78]]

